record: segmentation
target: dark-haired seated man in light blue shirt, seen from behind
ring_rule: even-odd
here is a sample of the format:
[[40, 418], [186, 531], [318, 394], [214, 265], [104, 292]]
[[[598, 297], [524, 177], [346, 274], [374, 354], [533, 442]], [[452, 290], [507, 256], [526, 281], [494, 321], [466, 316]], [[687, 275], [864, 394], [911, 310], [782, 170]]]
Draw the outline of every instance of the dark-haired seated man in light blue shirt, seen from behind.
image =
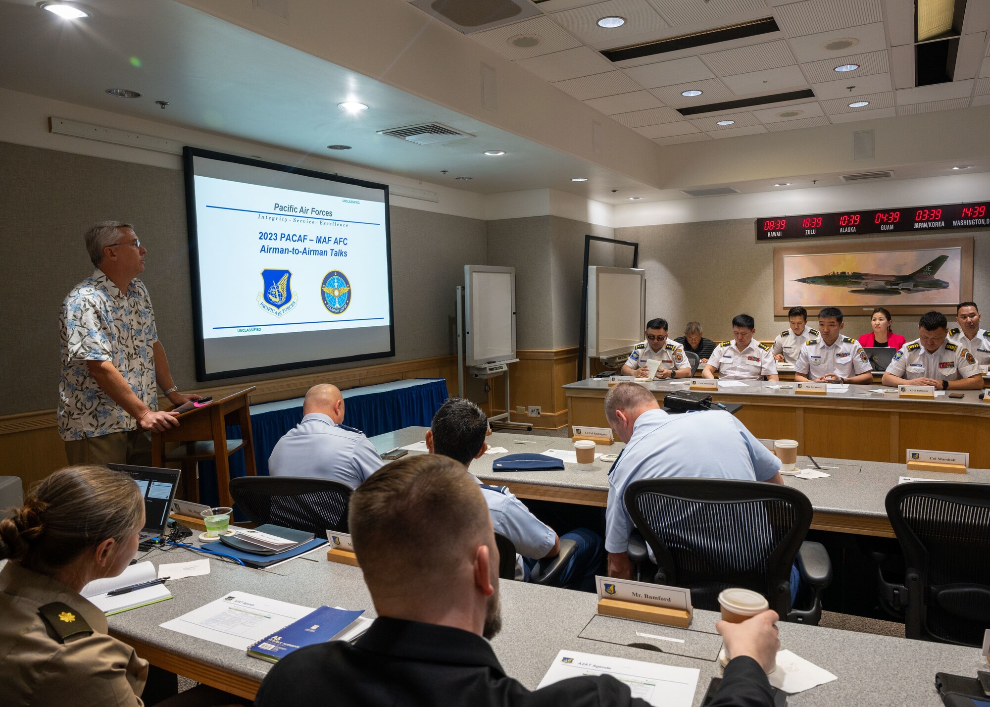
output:
[[[444, 454], [469, 466], [472, 459], [479, 458], [488, 449], [487, 430], [488, 419], [481, 408], [464, 398], [447, 398], [427, 431], [427, 449], [431, 454]], [[529, 581], [530, 570], [538, 559], [555, 557], [560, 552], [559, 538], [508, 488], [481, 483], [473, 474], [471, 478], [481, 486], [495, 532], [516, 546], [516, 579]], [[577, 528], [563, 537], [577, 543], [577, 552], [561, 572], [559, 585], [594, 591], [595, 574], [605, 562], [601, 536], [586, 528]]]

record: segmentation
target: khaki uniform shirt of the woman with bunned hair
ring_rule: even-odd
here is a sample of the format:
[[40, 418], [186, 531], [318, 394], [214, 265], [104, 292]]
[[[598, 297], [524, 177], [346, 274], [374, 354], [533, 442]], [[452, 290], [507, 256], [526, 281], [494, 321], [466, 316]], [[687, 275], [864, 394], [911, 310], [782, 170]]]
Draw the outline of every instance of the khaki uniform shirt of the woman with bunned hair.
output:
[[[93, 629], [61, 643], [39, 609], [67, 604]], [[107, 635], [103, 612], [61, 582], [9, 561], [0, 571], [0, 703], [142, 707], [148, 661]]]

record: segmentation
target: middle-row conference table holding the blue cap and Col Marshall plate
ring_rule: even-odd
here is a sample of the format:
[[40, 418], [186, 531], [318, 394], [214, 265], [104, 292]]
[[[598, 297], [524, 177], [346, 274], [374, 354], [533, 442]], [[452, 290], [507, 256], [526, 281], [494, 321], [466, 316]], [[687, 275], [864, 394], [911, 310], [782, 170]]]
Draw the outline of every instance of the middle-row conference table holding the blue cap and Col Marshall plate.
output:
[[[372, 437], [379, 453], [396, 447], [413, 445], [423, 440], [428, 428], [407, 427], [403, 430]], [[492, 461], [505, 454], [542, 454], [546, 450], [573, 450], [569, 438], [514, 435], [496, 432], [487, 437], [489, 447], [502, 447], [504, 454], [484, 454], [471, 462], [469, 470], [485, 483], [508, 486], [517, 497], [541, 501], [605, 506], [608, 500], [608, 472], [612, 464], [596, 459], [591, 470], [583, 471], [576, 464], [564, 463], [562, 471], [493, 471]], [[619, 454], [625, 447], [621, 442], [611, 446], [598, 445], [596, 453]], [[423, 454], [410, 452], [409, 454]], [[990, 469], [969, 469], [968, 473], [909, 471], [905, 463], [860, 461], [829, 456], [815, 456], [815, 461], [830, 476], [803, 479], [784, 476], [784, 483], [800, 489], [811, 501], [815, 511], [811, 527], [815, 530], [850, 533], [853, 535], [893, 538], [894, 531], [887, 520], [884, 499], [897, 485], [901, 476], [929, 478], [940, 481], [990, 483]], [[798, 457], [798, 468], [816, 468], [807, 456]]]

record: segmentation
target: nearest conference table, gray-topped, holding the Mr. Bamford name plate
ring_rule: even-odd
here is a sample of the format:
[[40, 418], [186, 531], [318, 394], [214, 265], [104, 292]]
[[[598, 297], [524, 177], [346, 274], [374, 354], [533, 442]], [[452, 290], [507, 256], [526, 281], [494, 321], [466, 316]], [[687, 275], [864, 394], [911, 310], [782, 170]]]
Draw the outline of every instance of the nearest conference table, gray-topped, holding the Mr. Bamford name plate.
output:
[[[269, 570], [257, 570], [210, 559], [210, 573], [168, 582], [173, 598], [108, 617], [110, 633], [133, 646], [152, 664], [242, 697], [254, 696], [271, 665], [244, 651], [160, 627], [193, 609], [241, 590], [308, 607], [321, 605], [363, 609], [374, 607], [361, 571], [326, 559], [326, 547]], [[188, 550], [152, 551], [155, 565], [203, 556]], [[506, 673], [536, 689], [560, 650], [660, 662], [700, 671], [694, 707], [701, 704], [711, 678], [721, 675], [717, 662], [718, 614], [696, 610], [687, 631], [597, 616], [594, 594], [500, 580], [503, 625], [492, 647]], [[670, 636], [683, 645], [655, 641], [637, 632]], [[780, 623], [781, 647], [839, 677], [790, 695], [792, 707], [871, 707], [916, 705], [938, 707], [934, 687], [939, 671], [975, 677], [986, 667], [979, 649], [839, 631], [803, 624]], [[648, 645], [646, 650], [630, 644]], [[683, 655], [688, 654], [688, 655]], [[332, 696], [328, 695], [328, 703]]]

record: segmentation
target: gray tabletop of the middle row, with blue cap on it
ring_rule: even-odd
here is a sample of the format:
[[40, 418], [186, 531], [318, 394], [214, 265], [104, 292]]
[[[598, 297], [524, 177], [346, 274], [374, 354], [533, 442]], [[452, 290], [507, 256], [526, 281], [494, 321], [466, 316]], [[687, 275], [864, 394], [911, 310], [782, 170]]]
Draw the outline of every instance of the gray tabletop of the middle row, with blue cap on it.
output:
[[[982, 403], [981, 403], [982, 404]], [[378, 452], [394, 447], [412, 445], [423, 439], [427, 428], [407, 427], [395, 432], [372, 437]], [[489, 447], [504, 447], [507, 454], [541, 454], [546, 450], [573, 449], [568, 438], [541, 437], [537, 435], [514, 435], [511, 432], [496, 432], [487, 438]], [[519, 444], [526, 443], [526, 444]], [[596, 452], [619, 454], [625, 447], [616, 442], [610, 447], [599, 445]], [[421, 454], [411, 452], [410, 454]], [[492, 461], [504, 454], [485, 454], [471, 462], [469, 470], [486, 483], [505, 484], [523, 482], [560, 488], [578, 488], [595, 491], [608, 491], [608, 471], [612, 464], [595, 461], [594, 469], [581, 471], [576, 464], [565, 463], [563, 471], [492, 471]], [[852, 516], [872, 516], [886, 518], [883, 502], [901, 476], [931, 478], [940, 481], [963, 481], [970, 483], [990, 483], [990, 470], [970, 469], [969, 473], [935, 473], [908, 471], [906, 464], [884, 461], [853, 461], [816, 456], [815, 460], [823, 471], [832, 474], [828, 478], [802, 479], [784, 477], [784, 483], [794, 486], [811, 500], [816, 513], [842, 513]], [[798, 457], [799, 468], [814, 468], [807, 456]], [[825, 468], [829, 467], [829, 468]], [[836, 467], [836, 468], [832, 468]]]

